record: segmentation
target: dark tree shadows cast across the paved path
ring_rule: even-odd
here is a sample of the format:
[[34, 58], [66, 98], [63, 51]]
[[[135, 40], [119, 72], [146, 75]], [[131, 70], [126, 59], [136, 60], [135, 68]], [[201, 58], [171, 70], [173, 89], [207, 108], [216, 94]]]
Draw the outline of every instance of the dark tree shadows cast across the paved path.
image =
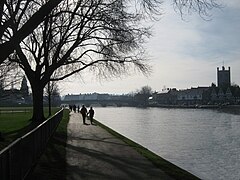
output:
[[[159, 177], [161, 176], [160, 174], [156, 173], [156, 168], [149, 167], [149, 162], [147, 161], [148, 163], [146, 163], [145, 158], [138, 158], [138, 156], [129, 157], [122, 155], [120, 153], [121, 149], [124, 150], [124, 148], [122, 147], [128, 146], [125, 143], [111, 142], [111, 138], [103, 138], [98, 140], [76, 138], [76, 140], [80, 139], [82, 141], [90, 141], [90, 144], [94, 144], [96, 142], [97, 144], [99, 144], [100, 142], [109, 144], [109, 147], [116, 147], [111, 148], [111, 150], [107, 150], [105, 152], [104, 149], [101, 148], [96, 149], [84, 147], [84, 145], [75, 146], [72, 144], [67, 144], [67, 148], [70, 150], [70, 152], [72, 151], [80, 154], [80, 157], [82, 159], [76, 158], [76, 161], [79, 160], [83, 162], [79, 162], [80, 165], [78, 166], [69, 164], [67, 165], [67, 177], [69, 177], [68, 179], [74, 179], [74, 177], [78, 177], [80, 179], [143, 179], [142, 175], [146, 174], [148, 174], [148, 177], [159, 179]], [[114, 152], [114, 149], [120, 149], [120, 151]], [[102, 164], [106, 167], [96, 168], [98, 167], [98, 165], [96, 164]], [[113, 169], [113, 173], [111, 172], [111, 170], [109, 171], [109, 169]], [[114, 171], [114, 169], [117, 169], [117, 171]], [[115, 172], [120, 173], [123, 176], [117, 176]]]

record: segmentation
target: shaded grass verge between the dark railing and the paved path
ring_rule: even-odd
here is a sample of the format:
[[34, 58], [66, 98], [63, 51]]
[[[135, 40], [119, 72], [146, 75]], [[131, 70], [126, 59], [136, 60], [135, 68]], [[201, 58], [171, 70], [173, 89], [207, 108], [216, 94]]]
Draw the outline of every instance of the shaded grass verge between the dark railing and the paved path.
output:
[[69, 111], [64, 110], [54, 136], [47, 145], [45, 153], [41, 156], [27, 180], [62, 180], [66, 179], [66, 141]]

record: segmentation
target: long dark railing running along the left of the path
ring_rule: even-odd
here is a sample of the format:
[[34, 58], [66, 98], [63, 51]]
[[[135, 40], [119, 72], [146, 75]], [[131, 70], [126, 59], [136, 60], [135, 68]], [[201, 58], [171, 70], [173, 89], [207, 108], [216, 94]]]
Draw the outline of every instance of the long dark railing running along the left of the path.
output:
[[63, 109], [0, 151], [0, 179], [25, 179], [63, 116]]

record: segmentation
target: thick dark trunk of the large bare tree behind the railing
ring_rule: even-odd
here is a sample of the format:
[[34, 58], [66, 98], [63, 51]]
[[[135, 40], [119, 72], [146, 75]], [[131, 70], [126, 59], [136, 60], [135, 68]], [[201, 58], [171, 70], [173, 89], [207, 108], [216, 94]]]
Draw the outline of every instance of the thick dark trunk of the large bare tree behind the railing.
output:
[[42, 122], [45, 120], [43, 112], [43, 88], [39, 86], [32, 86], [33, 96], [33, 115], [32, 121]]

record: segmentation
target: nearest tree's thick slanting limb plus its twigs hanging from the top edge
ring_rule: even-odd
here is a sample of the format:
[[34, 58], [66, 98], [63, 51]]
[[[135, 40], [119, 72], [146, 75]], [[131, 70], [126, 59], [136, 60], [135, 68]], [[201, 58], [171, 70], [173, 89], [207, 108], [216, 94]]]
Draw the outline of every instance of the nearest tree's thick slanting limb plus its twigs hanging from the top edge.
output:
[[[1, 0], [0, 1], [0, 64], [16, 49], [26, 36], [28, 36], [43, 20], [50, 14], [53, 8], [62, 2], [62, 0], [46, 1], [31, 0]], [[153, 11], [159, 12], [159, 0], [140, 0], [139, 3], [144, 7], [145, 12], [151, 14]], [[24, 14], [34, 8], [29, 19], [24, 18]], [[219, 8], [215, 0], [173, 0], [173, 5], [180, 14], [184, 12], [198, 12], [200, 16], [208, 16], [209, 10]], [[23, 21], [22, 21], [23, 20]], [[12, 30], [12, 21], [22, 23], [15, 31]], [[6, 37], [6, 34], [8, 36]]]

